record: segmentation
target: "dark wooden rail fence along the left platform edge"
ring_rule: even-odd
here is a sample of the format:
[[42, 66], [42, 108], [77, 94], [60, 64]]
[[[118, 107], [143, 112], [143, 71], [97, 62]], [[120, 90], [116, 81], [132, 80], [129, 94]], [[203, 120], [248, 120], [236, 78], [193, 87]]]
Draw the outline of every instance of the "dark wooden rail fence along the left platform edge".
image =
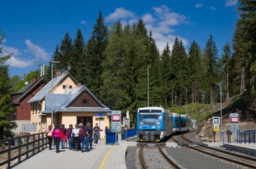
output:
[[[11, 166], [11, 161], [18, 158], [18, 162], [21, 161], [21, 157], [26, 155], [26, 158], [29, 157], [29, 152], [33, 152], [35, 154], [35, 150], [37, 149], [37, 152], [40, 151], [40, 147], [42, 147], [42, 150], [47, 147], [47, 136], [44, 136], [45, 133], [36, 133], [33, 135], [25, 135], [25, 136], [17, 136], [15, 138], [8, 138], [4, 140], [0, 140], [0, 143], [8, 144], [8, 149], [1, 151], [0, 155], [7, 153], [8, 159], [0, 163], [0, 166], [8, 164], [8, 168]], [[38, 140], [35, 140], [35, 136], [37, 136]], [[32, 137], [33, 140], [29, 142], [29, 137]], [[24, 138], [24, 142], [22, 142], [22, 138]], [[26, 140], [25, 140], [26, 139]], [[19, 144], [15, 147], [12, 147], [13, 142]], [[26, 142], [26, 143], [25, 143]], [[32, 147], [29, 147], [31, 145]], [[22, 147], [26, 147], [25, 152], [22, 152]], [[18, 149], [18, 155], [12, 157], [12, 151]], [[2, 155], [3, 156], [3, 155]]]

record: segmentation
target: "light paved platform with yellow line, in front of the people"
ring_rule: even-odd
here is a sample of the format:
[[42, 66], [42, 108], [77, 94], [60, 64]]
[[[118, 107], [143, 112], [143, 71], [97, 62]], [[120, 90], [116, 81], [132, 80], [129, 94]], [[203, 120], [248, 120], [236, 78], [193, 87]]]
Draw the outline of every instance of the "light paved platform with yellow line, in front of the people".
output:
[[[94, 146], [93, 146], [94, 147]], [[90, 152], [60, 149], [55, 152], [55, 147], [44, 151], [15, 164], [12, 168], [102, 168], [124, 169], [125, 151], [127, 145], [96, 145]]]

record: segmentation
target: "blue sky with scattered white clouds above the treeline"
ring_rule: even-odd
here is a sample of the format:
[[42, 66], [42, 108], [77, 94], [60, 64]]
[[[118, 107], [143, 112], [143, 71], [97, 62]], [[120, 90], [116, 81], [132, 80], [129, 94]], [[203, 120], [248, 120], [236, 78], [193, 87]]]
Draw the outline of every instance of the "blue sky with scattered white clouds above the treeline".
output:
[[[232, 43], [236, 26], [237, 0], [98, 0], [98, 1], [1, 1], [1, 34], [5, 33], [3, 54], [13, 52], [10, 76], [29, 73], [48, 64], [57, 44], [65, 33], [72, 40], [80, 28], [85, 42], [91, 36], [99, 10], [105, 24], [110, 26], [120, 19], [123, 26], [136, 24], [140, 18], [148, 31], [151, 29], [159, 51], [175, 36], [182, 39], [188, 51], [195, 40], [201, 49], [210, 34], [219, 55], [227, 41]], [[39, 62], [40, 61], [40, 62]]]

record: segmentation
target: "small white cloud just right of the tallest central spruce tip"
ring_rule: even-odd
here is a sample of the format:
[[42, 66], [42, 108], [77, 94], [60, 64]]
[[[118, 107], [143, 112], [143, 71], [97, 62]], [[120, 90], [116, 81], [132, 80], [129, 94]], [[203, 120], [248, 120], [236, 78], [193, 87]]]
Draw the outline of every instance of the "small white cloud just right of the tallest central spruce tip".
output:
[[110, 13], [107, 17], [105, 17], [106, 22], [111, 20], [118, 20], [118, 18], [132, 18], [135, 14], [132, 11], [125, 10], [123, 7], [116, 8], [114, 13]]

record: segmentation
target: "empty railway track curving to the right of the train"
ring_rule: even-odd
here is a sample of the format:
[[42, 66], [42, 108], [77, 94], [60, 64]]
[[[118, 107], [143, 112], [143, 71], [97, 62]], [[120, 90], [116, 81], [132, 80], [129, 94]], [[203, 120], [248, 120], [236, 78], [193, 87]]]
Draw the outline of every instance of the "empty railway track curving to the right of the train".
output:
[[[172, 139], [175, 142], [181, 142], [181, 143], [193, 143], [187, 138], [184, 138], [184, 135], [180, 136], [174, 136], [175, 138], [172, 137]], [[214, 149], [212, 147], [207, 147], [205, 145], [200, 145], [197, 147], [191, 147], [189, 145], [184, 145], [189, 149], [193, 149], [198, 152], [202, 152], [204, 154], [214, 156], [215, 158], [225, 160], [231, 163], [235, 163], [237, 165], [242, 165], [242, 166], [247, 166], [248, 168], [256, 168], [256, 159], [255, 158], [250, 158], [247, 156], [242, 156], [239, 154], [234, 154], [232, 152], [227, 152], [227, 151], [221, 151], [220, 149]]]

